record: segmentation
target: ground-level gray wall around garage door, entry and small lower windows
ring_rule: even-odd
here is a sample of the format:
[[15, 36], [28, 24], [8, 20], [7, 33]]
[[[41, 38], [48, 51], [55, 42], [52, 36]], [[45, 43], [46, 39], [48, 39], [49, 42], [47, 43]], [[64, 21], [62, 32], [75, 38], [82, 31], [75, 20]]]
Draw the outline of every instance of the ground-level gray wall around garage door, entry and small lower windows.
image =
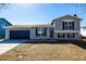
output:
[[[50, 28], [47, 28], [46, 29], [46, 36], [36, 36], [36, 29], [35, 28], [16, 28], [16, 29], [5, 29], [5, 39], [10, 39], [10, 30], [29, 30], [29, 39], [51, 39], [50, 38]], [[75, 33], [75, 38], [74, 39], [69, 39], [67, 38], [67, 33], [64, 33], [65, 34], [65, 40], [78, 40], [81, 35], [78, 33]], [[58, 33], [53, 33], [53, 39], [60, 39], [58, 38]]]

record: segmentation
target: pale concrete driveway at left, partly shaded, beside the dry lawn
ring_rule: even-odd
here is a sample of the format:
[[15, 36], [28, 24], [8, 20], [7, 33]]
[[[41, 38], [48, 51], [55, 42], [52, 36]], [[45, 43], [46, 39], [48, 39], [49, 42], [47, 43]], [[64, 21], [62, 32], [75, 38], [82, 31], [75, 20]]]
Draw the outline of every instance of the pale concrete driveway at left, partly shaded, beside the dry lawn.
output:
[[10, 49], [25, 42], [27, 40], [0, 40], [0, 54], [9, 51]]

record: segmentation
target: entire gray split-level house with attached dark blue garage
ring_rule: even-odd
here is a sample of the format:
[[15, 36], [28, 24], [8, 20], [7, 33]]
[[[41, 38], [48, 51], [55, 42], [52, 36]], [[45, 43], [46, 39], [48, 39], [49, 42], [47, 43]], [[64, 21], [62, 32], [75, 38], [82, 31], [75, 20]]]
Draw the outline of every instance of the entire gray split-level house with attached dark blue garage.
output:
[[78, 16], [64, 15], [52, 20], [51, 25], [15, 25], [5, 28], [5, 39], [57, 39], [79, 40]]

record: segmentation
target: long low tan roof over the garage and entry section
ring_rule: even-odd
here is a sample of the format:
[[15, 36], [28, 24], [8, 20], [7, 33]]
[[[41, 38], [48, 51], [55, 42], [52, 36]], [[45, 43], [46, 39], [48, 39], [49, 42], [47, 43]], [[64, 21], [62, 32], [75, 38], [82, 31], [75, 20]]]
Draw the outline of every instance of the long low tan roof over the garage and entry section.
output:
[[53, 27], [52, 25], [13, 25], [5, 28], [35, 28], [35, 27]]

